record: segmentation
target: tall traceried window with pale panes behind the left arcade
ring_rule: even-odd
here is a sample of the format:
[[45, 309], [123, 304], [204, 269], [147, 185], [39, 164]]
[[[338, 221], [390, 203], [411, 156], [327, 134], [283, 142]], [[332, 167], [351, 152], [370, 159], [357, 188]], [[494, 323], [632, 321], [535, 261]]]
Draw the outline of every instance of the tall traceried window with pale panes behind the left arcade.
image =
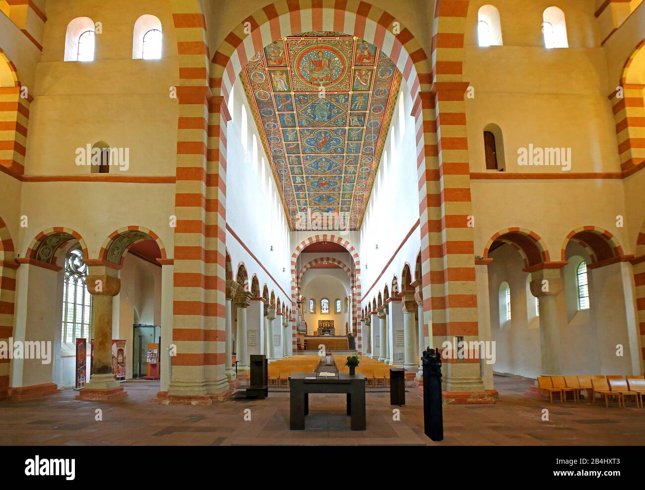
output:
[[61, 342], [90, 338], [91, 295], [85, 287], [87, 273], [83, 252], [76, 246], [65, 257]]

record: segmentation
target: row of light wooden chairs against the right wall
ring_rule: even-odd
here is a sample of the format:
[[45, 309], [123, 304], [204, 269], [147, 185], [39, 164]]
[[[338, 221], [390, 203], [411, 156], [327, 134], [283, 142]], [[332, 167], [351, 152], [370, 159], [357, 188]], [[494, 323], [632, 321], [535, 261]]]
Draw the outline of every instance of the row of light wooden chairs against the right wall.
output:
[[629, 375], [627, 379], [621, 375], [593, 376], [540, 376], [537, 378], [540, 393], [546, 391], [553, 403], [553, 395], [560, 395], [560, 402], [566, 403], [567, 393], [573, 395], [575, 402], [580, 401], [581, 391], [587, 392], [587, 399], [595, 403], [596, 395], [604, 399], [609, 407], [612, 398], [617, 398], [618, 406], [626, 406], [629, 397], [634, 397], [637, 407], [643, 406], [645, 396], [645, 377]]

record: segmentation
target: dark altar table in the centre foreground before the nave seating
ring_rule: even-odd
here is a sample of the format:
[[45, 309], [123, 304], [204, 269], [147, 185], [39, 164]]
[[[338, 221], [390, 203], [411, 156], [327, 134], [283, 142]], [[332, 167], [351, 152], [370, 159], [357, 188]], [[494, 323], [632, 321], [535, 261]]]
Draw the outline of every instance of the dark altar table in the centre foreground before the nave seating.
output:
[[347, 415], [352, 416], [352, 430], [364, 431], [366, 379], [365, 375], [347, 373], [337, 373], [333, 377], [320, 377], [317, 373], [292, 374], [289, 377], [290, 429], [304, 429], [304, 417], [309, 413], [310, 393], [346, 393]]

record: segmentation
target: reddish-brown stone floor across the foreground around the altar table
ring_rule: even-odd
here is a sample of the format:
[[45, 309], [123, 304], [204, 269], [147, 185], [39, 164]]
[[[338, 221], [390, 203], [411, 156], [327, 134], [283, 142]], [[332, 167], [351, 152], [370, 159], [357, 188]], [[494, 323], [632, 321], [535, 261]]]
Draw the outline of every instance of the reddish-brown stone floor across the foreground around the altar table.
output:
[[[150, 402], [158, 381], [127, 382], [128, 397], [84, 402], [75, 391], [27, 402], [0, 402], [0, 444], [7, 445], [641, 445], [645, 409], [581, 402], [565, 405], [526, 395], [531, 381], [495, 377], [494, 405], [444, 406], [444, 441], [422, 429], [422, 400], [408, 389], [400, 420], [389, 392], [367, 397], [367, 430], [351, 431], [344, 395], [312, 395], [305, 431], [289, 430], [286, 391], [266, 400], [231, 400], [211, 406], [160, 406]], [[542, 421], [542, 409], [549, 421]], [[103, 420], [97, 418], [101, 409]], [[250, 409], [251, 420], [244, 420]], [[247, 417], [248, 418], [248, 417]]]

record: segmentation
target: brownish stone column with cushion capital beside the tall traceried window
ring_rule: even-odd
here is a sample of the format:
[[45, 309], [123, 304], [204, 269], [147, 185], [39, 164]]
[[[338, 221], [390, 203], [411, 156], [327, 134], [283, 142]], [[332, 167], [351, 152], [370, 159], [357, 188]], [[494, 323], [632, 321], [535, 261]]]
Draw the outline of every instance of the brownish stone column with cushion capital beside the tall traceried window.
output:
[[92, 295], [94, 368], [90, 382], [76, 396], [78, 400], [112, 400], [128, 394], [112, 373], [112, 299], [121, 290], [118, 273], [106, 266], [92, 266], [85, 280]]

